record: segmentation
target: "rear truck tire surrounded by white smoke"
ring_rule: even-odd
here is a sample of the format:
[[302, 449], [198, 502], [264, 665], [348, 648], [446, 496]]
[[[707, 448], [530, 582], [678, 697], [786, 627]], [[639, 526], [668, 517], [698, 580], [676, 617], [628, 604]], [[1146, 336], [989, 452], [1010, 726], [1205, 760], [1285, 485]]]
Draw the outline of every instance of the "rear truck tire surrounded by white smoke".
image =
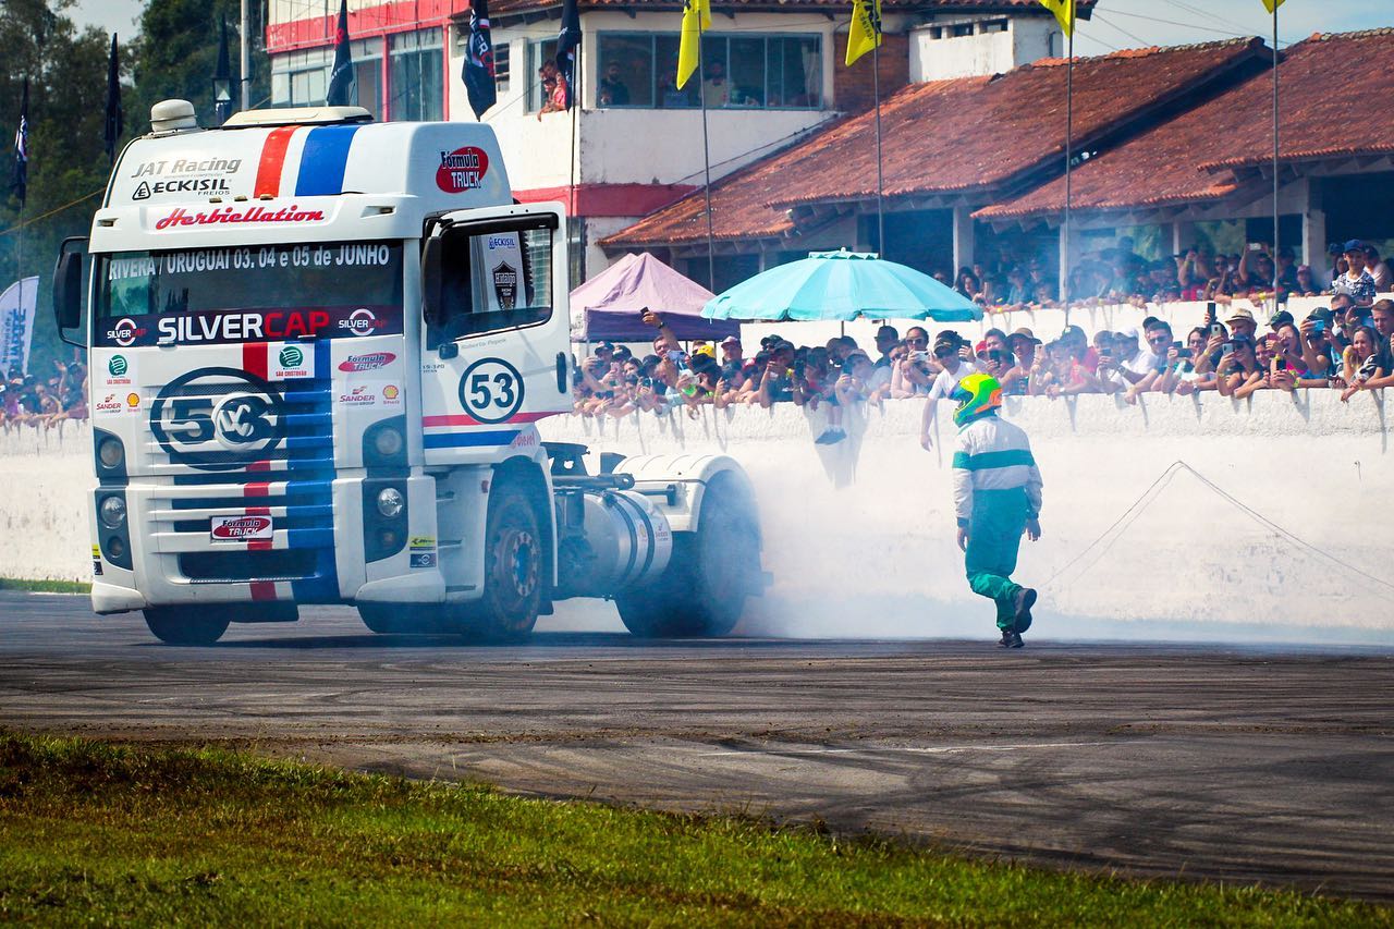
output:
[[758, 590], [760, 529], [750, 494], [718, 474], [703, 495], [696, 533], [673, 533], [673, 555], [657, 580], [615, 596], [636, 636], [723, 636]]

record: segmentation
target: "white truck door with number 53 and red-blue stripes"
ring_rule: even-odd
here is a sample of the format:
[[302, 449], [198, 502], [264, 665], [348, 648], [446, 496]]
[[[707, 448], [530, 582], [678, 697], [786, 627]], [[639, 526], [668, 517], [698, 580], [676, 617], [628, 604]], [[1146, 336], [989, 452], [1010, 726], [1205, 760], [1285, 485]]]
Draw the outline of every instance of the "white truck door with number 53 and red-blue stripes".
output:
[[421, 413], [428, 464], [535, 445], [572, 410], [560, 204], [447, 213], [422, 250]]

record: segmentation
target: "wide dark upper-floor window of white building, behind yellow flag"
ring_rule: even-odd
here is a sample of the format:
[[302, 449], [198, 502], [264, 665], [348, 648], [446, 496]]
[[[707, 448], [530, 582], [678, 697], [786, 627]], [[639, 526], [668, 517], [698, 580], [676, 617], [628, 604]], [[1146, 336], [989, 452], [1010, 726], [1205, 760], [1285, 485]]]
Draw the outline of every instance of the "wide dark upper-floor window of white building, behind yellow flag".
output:
[[[602, 32], [602, 107], [821, 109], [822, 42], [815, 35], [708, 35], [703, 75], [677, 89], [677, 33]], [[701, 82], [698, 84], [698, 78]]]

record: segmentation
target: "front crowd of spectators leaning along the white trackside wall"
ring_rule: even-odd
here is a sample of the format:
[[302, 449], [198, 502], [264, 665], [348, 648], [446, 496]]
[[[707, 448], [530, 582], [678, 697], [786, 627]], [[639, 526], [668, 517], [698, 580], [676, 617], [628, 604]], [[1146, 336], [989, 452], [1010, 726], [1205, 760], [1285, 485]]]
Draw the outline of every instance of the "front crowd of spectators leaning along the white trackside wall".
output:
[[889, 325], [864, 350], [850, 336], [822, 346], [795, 346], [767, 336], [746, 357], [736, 338], [719, 345], [694, 342], [684, 350], [661, 317], [644, 314], [657, 335], [652, 353], [599, 343], [576, 371], [576, 411], [622, 417], [634, 411], [696, 417], [701, 406], [769, 407], [795, 403], [828, 409], [828, 428], [817, 438], [845, 438], [842, 409], [855, 403], [928, 400], [923, 441], [930, 442], [935, 400], [947, 399], [974, 371], [994, 375], [1008, 395], [1059, 398], [1118, 395], [1136, 403], [1143, 393], [1190, 395], [1214, 391], [1245, 398], [1256, 391], [1335, 389], [1342, 400], [1361, 391], [1394, 385], [1394, 301], [1366, 301], [1348, 293], [1302, 319], [1280, 310], [1260, 332], [1253, 311], [1210, 304], [1202, 325], [1177, 332], [1149, 317], [1140, 328], [1100, 331], [1089, 338], [1066, 325], [1043, 342], [1030, 329], [990, 329], [976, 345], [953, 329], [930, 335]]

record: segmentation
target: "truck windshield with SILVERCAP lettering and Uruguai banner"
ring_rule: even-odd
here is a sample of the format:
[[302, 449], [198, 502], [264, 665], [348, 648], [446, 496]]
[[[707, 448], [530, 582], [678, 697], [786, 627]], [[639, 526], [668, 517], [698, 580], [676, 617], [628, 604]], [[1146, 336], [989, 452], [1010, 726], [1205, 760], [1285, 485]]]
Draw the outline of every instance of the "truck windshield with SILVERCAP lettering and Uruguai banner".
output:
[[337, 241], [98, 255], [95, 343], [400, 333], [401, 254]]

